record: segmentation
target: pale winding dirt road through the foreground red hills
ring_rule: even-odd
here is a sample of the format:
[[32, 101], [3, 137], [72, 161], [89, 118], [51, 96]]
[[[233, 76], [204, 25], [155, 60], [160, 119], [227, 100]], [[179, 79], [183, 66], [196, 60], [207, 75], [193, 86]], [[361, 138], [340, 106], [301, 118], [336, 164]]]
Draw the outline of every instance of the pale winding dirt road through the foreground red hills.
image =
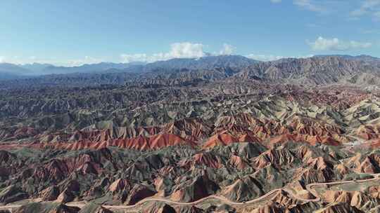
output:
[[[367, 174], [367, 173], [358, 173], [358, 174]], [[265, 193], [265, 195], [262, 195], [260, 198], [255, 198], [253, 200], [249, 200], [247, 202], [234, 202], [232, 200], [228, 200], [227, 198], [224, 198], [222, 196], [218, 195], [210, 195], [206, 198], [202, 198], [200, 200], [196, 200], [194, 202], [177, 202], [174, 200], [166, 199], [166, 198], [146, 198], [144, 200], [141, 200], [140, 202], [137, 202], [135, 205], [103, 205], [103, 207], [110, 209], [110, 210], [125, 210], [125, 209], [133, 209], [138, 207], [139, 205], [143, 204], [144, 202], [150, 202], [150, 201], [160, 201], [160, 202], [166, 202], [167, 204], [172, 204], [172, 205], [197, 205], [205, 200], [208, 199], [216, 199], [220, 200], [228, 205], [247, 205], [247, 204], [252, 204], [254, 202], [260, 202], [262, 200], [265, 200], [266, 198], [270, 197], [270, 195], [274, 195], [275, 193], [283, 190], [289, 193], [293, 198], [296, 198], [297, 200], [301, 200], [304, 202], [317, 202], [321, 200], [319, 194], [317, 191], [315, 191], [315, 186], [331, 186], [331, 185], [340, 185], [340, 184], [350, 184], [350, 183], [365, 183], [368, 181], [376, 181], [380, 180], [380, 174], [371, 174], [374, 177], [371, 179], [363, 179], [363, 180], [355, 180], [355, 181], [335, 181], [335, 182], [327, 182], [327, 183], [315, 183], [315, 184], [308, 184], [306, 186], [306, 190], [310, 192], [315, 198], [313, 199], [306, 199], [306, 198], [300, 198], [298, 195], [293, 194], [291, 191], [287, 190], [286, 188], [276, 188], [268, 193]], [[84, 207], [85, 204], [82, 203], [67, 203], [66, 205], [72, 206], [72, 207]], [[21, 205], [5, 205], [5, 206], [0, 206], [1, 209], [16, 209], [20, 207]]]

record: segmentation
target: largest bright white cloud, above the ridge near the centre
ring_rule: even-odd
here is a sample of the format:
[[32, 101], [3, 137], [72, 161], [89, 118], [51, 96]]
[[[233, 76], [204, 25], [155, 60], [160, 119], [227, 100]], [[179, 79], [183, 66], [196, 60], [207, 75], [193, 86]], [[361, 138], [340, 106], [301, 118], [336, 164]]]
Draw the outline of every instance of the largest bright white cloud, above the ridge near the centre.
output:
[[154, 53], [148, 55], [146, 53], [122, 54], [122, 62], [156, 62], [160, 60], [170, 60], [172, 58], [194, 58], [208, 55], [203, 51], [202, 43], [172, 43], [168, 53]]

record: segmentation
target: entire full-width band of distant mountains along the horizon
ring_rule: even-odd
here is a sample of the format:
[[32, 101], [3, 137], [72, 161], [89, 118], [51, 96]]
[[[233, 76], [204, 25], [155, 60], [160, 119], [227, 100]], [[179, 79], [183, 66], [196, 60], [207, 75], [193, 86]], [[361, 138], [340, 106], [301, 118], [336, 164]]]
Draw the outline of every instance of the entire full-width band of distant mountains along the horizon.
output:
[[[260, 62], [241, 55], [176, 58], [142, 63], [0, 64], [1, 88], [37, 85], [87, 86], [125, 83], [175, 85], [224, 78], [255, 79], [272, 83], [326, 85], [355, 83], [380, 85], [380, 59], [369, 55], [317, 55]], [[10, 80], [17, 81], [10, 81]], [[4, 81], [5, 80], [5, 81]]]

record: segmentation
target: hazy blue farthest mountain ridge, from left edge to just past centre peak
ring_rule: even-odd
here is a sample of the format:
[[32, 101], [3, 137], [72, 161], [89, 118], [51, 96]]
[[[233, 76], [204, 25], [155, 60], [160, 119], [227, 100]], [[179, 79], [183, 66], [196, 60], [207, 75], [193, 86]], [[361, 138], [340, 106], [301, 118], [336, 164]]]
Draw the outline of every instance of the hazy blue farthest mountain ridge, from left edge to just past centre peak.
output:
[[152, 63], [131, 62], [84, 64], [77, 67], [58, 67], [52, 64], [8, 64], [0, 63], [0, 80], [30, 78], [49, 74], [95, 74], [118, 72], [148, 72], [165, 69], [214, 69], [216, 67], [247, 67], [257, 61], [240, 55], [207, 56], [201, 58], [176, 58]]

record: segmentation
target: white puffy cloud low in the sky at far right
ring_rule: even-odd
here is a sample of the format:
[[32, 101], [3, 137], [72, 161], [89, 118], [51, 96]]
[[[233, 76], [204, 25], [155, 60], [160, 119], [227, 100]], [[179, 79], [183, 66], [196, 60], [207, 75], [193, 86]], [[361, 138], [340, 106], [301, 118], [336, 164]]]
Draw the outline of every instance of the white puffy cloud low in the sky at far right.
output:
[[358, 42], [358, 41], [341, 41], [337, 38], [334, 39], [324, 39], [319, 36], [314, 42], [308, 42], [312, 50], [350, 50], [356, 48], [369, 48], [372, 43], [369, 42]]

